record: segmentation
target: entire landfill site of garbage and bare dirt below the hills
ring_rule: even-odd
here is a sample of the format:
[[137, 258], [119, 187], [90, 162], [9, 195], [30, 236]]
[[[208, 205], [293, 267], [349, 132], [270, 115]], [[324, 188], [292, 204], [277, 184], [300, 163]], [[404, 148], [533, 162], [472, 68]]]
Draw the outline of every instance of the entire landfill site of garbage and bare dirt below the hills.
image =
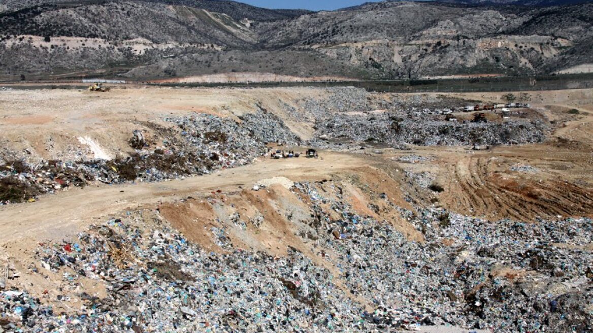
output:
[[2, 332], [593, 332], [593, 89], [0, 87]]

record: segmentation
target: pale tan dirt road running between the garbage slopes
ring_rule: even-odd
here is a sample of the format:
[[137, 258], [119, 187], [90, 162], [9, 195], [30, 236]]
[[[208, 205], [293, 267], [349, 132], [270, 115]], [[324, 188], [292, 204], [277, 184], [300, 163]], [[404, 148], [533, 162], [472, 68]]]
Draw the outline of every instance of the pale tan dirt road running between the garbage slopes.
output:
[[258, 180], [276, 176], [292, 180], [323, 179], [331, 172], [365, 165], [362, 157], [330, 152], [322, 155], [323, 159], [261, 158], [255, 164], [185, 180], [75, 188], [43, 196], [36, 203], [5, 206], [0, 209], [0, 243], [30, 236], [59, 239], [93, 223], [93, 219], [192, 193], [251, 187]]

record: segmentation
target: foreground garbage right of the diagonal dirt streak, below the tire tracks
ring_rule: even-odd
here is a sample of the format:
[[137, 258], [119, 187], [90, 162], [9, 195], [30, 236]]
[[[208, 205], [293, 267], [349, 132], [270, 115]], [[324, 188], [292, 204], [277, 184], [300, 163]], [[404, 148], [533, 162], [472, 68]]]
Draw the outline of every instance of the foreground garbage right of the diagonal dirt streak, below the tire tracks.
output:
[[[315, 184], [295, 187], [311, 198], [321, 248], [337, 254], [327, 260], [350, 292], [372, 300], [379, 322], [497, 332], [593, 329], [593, 254], [582, 250], [593, 236], [591, 219], [490, 222], [419, 209], [407, 216], [425, 235], [420, 244], [386, 221], [356, 215], [339, 188], [332, 200]], [[332, 220], [321, 204], [342, 219]]]

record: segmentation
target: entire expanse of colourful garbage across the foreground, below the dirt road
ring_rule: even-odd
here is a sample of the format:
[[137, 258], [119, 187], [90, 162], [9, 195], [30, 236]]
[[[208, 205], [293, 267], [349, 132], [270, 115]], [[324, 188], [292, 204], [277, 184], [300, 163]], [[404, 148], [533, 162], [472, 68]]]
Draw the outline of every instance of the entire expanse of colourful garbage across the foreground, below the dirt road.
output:
[[[297, 182], [292, 191], [311, 209], [310, 220], [294, 222], [306, 230], [299, 235], [337, 276], [294, 248], [285, 257], [236, 248], [228, 236], [234, 227], [224, 223], [209, 229], [224, 251], [206, 252], [141, 210], [75, 241], [40, 245], [31, 273], [60, 273], [64, 286], [46, 297], [83, 303], [56, 313], [26, 290], [5, 290], [0, 326], [9, 332], [593, 329], [593, 254], [584, 251], [591, 219], [493, 223], [396, 207], [425, 237], [411, 242], [389, 222], [353, 212], [331, 181]], [[265, 223], [258, 218], [257, 228]], [[82, 279], [102, 281], [107, 296], [85, 293]]]

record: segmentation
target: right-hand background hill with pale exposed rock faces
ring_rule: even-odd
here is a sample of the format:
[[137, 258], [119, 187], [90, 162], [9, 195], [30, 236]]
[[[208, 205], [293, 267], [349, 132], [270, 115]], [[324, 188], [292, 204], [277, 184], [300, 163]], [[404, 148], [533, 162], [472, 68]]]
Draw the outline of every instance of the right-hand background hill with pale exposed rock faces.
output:
[[382, 2], [283, 21], [266, 42], [297, 44], [382, 78], [552, 71], [571, 55], [588, 61], [574, 47], [591, 36], [591, 20], [577, 11], [591, 8]]

